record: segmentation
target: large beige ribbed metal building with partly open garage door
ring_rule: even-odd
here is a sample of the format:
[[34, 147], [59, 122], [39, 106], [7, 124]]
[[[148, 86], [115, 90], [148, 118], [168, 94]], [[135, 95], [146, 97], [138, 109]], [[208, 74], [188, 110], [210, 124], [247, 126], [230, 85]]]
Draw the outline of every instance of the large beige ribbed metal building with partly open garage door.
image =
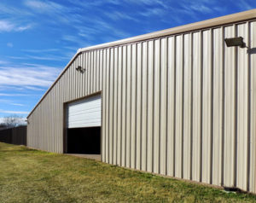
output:
[[89, 133], [103, 162], [256, 193], [256, 9], [79, 49], [27, 119], [31, 148]]

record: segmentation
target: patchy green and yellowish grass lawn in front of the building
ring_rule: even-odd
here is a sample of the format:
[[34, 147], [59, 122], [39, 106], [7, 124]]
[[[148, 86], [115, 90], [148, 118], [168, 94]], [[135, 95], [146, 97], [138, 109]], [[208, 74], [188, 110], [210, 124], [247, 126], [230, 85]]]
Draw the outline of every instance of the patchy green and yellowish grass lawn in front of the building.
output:
[[256, 202], [252, 194], [0, 142], [0, 202]]

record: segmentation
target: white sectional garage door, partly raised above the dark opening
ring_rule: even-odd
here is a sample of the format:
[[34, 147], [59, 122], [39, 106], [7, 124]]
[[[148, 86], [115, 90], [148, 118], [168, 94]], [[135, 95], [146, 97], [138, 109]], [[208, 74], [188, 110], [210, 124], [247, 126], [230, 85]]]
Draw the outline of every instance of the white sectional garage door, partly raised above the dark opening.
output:
[[91, 96], [67, 104], [67, 128], [96, 127], [101, 125], [101, 96]]

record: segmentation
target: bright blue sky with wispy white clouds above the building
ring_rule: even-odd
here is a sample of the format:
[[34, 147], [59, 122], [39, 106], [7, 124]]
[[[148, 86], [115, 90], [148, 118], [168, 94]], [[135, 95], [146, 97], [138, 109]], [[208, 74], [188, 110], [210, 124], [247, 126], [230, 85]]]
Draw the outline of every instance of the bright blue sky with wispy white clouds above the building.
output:
[[255, 8], [255, 0], [1, 0], [0, 122], [26, 117], [79, 48]]

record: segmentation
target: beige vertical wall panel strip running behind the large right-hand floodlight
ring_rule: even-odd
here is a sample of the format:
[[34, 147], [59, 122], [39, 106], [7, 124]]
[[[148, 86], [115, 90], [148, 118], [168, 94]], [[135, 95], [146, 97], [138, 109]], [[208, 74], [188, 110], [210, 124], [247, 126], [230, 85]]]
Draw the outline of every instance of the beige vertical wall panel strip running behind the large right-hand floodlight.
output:
[[[235, 26], [224, 27], [224, 38], [235, 37]], [[224, 46], [224, 183], [235, 186], [236, 173], [236, 48]]]

